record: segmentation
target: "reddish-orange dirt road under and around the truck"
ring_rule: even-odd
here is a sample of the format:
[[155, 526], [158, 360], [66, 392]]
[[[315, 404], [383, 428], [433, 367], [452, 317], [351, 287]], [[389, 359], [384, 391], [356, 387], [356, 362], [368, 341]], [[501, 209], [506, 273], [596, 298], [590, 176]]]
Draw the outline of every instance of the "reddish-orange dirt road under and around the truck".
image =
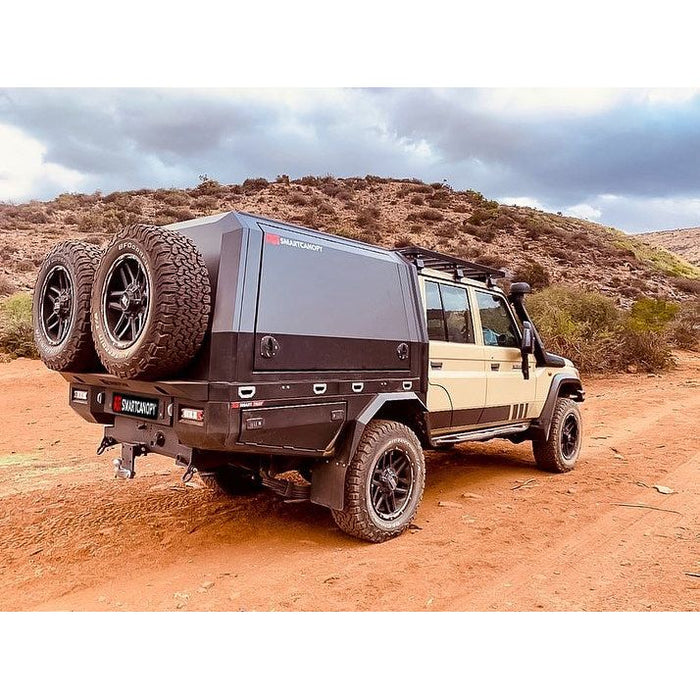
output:
[[61, 377], [0, 365], [0, 609], [698, 610], [700, 355], [681, 359], [586, 383], [570, 474], [507, 442], [430, 454], [416, 529], [381, 545], [165, 458], [115, 480]]

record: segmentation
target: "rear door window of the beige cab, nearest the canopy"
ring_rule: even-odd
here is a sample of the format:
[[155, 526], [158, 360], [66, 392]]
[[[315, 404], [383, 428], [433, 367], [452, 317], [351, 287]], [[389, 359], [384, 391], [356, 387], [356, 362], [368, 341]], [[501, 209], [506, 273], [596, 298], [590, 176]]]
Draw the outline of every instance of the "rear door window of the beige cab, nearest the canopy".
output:
[[425, 300], [430, 340], [446, 340], [449, 343], [474, 342], [469, 297], [464, 287], [426, 282]]

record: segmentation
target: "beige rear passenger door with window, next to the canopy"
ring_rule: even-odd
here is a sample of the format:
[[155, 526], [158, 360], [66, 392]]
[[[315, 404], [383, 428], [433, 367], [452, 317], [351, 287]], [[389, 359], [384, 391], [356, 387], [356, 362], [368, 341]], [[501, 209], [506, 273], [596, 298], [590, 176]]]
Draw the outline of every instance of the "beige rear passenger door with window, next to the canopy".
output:
[[466, 288], [425, 280], [428, 411], [431, 428], [454, 431], [479, 423], [486, 400], [485, 348], [476, 343]]

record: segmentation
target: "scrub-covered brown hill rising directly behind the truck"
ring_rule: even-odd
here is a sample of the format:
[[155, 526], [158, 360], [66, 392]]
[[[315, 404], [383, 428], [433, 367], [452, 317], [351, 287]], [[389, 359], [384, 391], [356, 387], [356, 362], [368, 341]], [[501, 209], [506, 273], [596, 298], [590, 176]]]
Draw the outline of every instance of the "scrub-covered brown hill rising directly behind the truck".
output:
[[[106, 243], [135, 221], [167, 224], [237, 209], [386, 247], [423, 245], [502, 267], [536, 288], [576, 284], [623, 306], [636, 297], [686, 298], [700, 270], [626, 234], [580, 219], [505, 206], [443, 183], [363, 178], [206, 177], [190, 189], [61, 194], [0, 205], [0, 295], [31, 290], [46, 252], [67, 238]], [[645, 237], [646, 238], [646, 237]], [[647, 238], [648, 240], [648, 238]]]

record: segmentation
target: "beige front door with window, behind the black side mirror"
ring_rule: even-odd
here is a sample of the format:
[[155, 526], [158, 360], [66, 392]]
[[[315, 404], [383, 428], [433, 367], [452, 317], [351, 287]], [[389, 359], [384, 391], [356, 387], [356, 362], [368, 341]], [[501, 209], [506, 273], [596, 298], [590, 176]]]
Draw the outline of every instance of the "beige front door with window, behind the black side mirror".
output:
[[535, 360], [530, 356], [530, 379], [522, 373], [520, 329], [501, 294], [474, 290], [479, 310], [480, 341], [486, 358], [486, 402], [481, 423], [515, 422], [534, 418]]

